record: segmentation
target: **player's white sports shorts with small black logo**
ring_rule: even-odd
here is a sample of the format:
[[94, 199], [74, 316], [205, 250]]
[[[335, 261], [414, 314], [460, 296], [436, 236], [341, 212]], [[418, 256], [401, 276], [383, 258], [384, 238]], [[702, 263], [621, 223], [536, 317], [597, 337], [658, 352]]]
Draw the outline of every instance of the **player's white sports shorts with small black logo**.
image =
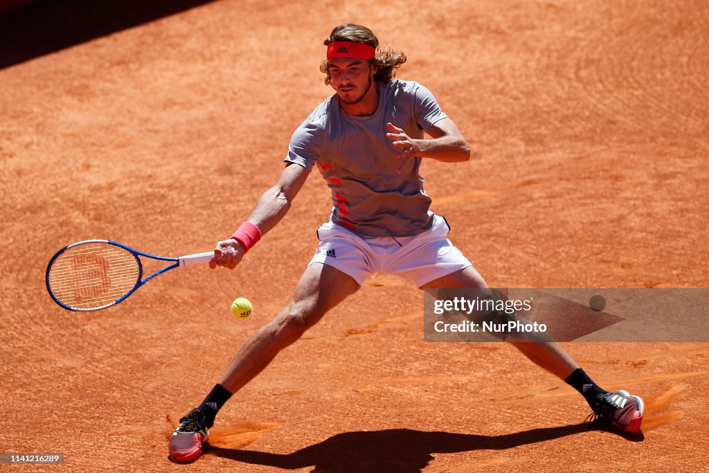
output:
[[354, 278], [360, 286], [369, 274], [401, 274], [420, 287], [459, 269], [472, 266], [447, 235], [445, 218], [433, 216], [431, 228], [411, 237], [362, 238], [332, 222], [318, 228], [320, 246], [308, 266], [330, 265]]

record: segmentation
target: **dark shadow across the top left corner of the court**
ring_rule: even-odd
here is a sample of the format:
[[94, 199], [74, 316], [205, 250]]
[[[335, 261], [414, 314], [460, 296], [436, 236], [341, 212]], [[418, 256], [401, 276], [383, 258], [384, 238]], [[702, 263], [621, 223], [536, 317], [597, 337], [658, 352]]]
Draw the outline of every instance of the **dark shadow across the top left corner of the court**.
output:
[[0, 15], [0, 69], [211, 1], [35, 1]]

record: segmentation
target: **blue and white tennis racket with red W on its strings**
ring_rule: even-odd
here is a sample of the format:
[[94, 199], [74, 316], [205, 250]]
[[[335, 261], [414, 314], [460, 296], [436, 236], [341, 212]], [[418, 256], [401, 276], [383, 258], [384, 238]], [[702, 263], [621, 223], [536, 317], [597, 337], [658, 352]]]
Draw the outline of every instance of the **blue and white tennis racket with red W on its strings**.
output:
[[[108, 240], [84, 240], [62, 248], [47, 265], [47, 290], [69, 311], [115, 306], [150, 279], [176, 267], [212, 259], [213, 251], [177, 258], [149, 255]], [[172, 262], [143, 278], [140, 258]]]

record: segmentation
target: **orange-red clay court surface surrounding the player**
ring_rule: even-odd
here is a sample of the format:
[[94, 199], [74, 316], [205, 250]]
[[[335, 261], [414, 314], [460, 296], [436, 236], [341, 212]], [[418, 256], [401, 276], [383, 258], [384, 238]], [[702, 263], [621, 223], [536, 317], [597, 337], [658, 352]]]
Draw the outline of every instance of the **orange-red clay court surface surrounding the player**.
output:
[[[366, 13], [365, 13], [366, 12]], [[190, 267], [69, 313], [44, 270], [109, 238], [182, 255], [230, 235], [331, 90], [322, 41], [370, 26], [475, 158], [425, 162], [433, 209], [492, 286], [705, 287], [705, 1], [219, 1], [0, 71], [1, 452], [18, 471], [699, 471], [706, 343], [567, 343], [647, 400], [642, 440], [503, 344], [423, 343], [423, 294], [372, 277], [220, 412], [201, 459], [167, 436], [286, 304], [329, 212], [316, 174], [235, 271]], [[230, 303], [255, 311], [239, 320]]]

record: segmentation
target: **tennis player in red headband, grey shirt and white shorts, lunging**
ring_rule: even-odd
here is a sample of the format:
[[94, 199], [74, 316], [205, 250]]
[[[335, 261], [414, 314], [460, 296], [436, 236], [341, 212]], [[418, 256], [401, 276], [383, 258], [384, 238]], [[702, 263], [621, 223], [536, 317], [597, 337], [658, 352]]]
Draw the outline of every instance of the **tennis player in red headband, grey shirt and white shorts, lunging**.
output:
[[[429, 211], [431, 199], [419, 172], [424, 159], [467, 161], [465, 138], [428, 89], [393, 79], [406, 56], [380, 48], [368, 28], [337, 26], [325, 45], [320, 70], [335, 94], [295, 130], [279, 181], [232, 237], [217, 243], [210, 265], [236, 267], [286, 215], [313, 168], [330, 187], [333, 211], [318, 229], [319, 246], [293, 299], [246, 340], [203, 402], [180, 419], [169, 438], [169, 454], [179, 462], [201, 455], [208, 428], [230, 396], [372, 272], [400, 274], [421, 289], [486, 288], [447, 238], [445, 218]], [[523, 336], [509, 334], [506, 340], [579, 391], [592, 415], [630, 433], [640, 430], [640, 397], [601, 389], [548, 335]]]

